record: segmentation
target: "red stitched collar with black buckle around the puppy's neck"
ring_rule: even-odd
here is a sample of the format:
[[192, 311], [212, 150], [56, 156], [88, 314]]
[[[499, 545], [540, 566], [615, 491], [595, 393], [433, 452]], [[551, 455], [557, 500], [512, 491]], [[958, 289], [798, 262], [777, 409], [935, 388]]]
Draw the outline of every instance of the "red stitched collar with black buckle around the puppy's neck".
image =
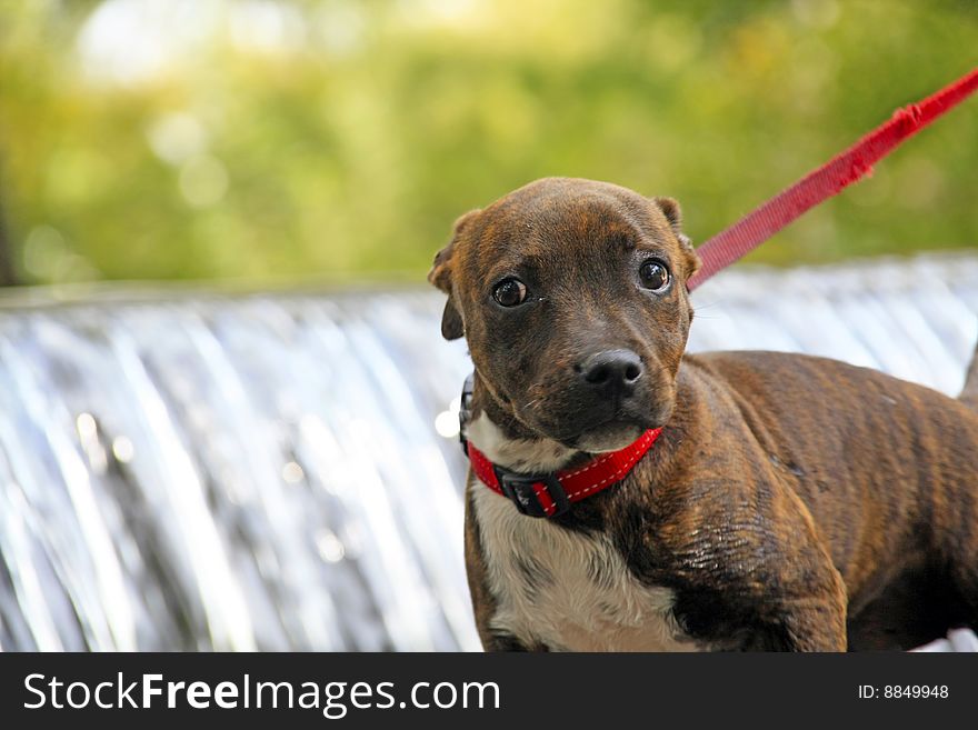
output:
[[579, 502], [625, 479], [661, 432], [661, 428], [651, 429], [619, 451], [602, 453], [582, 467], [556, 473], [521, 474], [493, 464], [472, 443], [466, 444], [466, 451], [479, 481], [508, 497], [522, 514], [556, 517], [566, 512], [571, 502]]

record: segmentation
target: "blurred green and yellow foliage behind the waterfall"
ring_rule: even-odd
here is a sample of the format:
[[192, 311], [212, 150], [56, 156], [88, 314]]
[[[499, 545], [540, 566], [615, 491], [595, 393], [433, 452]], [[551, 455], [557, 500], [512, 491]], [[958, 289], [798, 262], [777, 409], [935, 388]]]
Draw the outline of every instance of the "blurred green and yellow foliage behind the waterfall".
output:
[[[964, 0], [0, 0], [20, 277], [421, 279], [549, 174], [703, 240], [970, 70]], [[978, 101], [752, 256], [978, 244]]]

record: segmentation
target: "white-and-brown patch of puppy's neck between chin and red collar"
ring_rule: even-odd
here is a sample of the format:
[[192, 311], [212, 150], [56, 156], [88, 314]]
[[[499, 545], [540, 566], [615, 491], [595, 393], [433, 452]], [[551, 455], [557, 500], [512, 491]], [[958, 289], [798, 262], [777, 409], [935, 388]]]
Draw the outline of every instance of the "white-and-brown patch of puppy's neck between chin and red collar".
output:
[[492, 463], [522, 473], [557, 471], [583, 453], [533, 433], [496, 400], [478, 376], [472, 420], [465, 436]]

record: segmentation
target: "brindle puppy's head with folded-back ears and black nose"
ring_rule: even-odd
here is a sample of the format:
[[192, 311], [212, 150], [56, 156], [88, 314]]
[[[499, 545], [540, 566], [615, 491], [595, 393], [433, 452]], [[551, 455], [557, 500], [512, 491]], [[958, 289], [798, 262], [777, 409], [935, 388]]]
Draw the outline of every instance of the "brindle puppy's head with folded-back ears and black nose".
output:
[[495, 403], [537, 437], [620, 449], [669, 418], [699, 267], [678, 203], [548, 178], [462, 216], [429, 281]]

